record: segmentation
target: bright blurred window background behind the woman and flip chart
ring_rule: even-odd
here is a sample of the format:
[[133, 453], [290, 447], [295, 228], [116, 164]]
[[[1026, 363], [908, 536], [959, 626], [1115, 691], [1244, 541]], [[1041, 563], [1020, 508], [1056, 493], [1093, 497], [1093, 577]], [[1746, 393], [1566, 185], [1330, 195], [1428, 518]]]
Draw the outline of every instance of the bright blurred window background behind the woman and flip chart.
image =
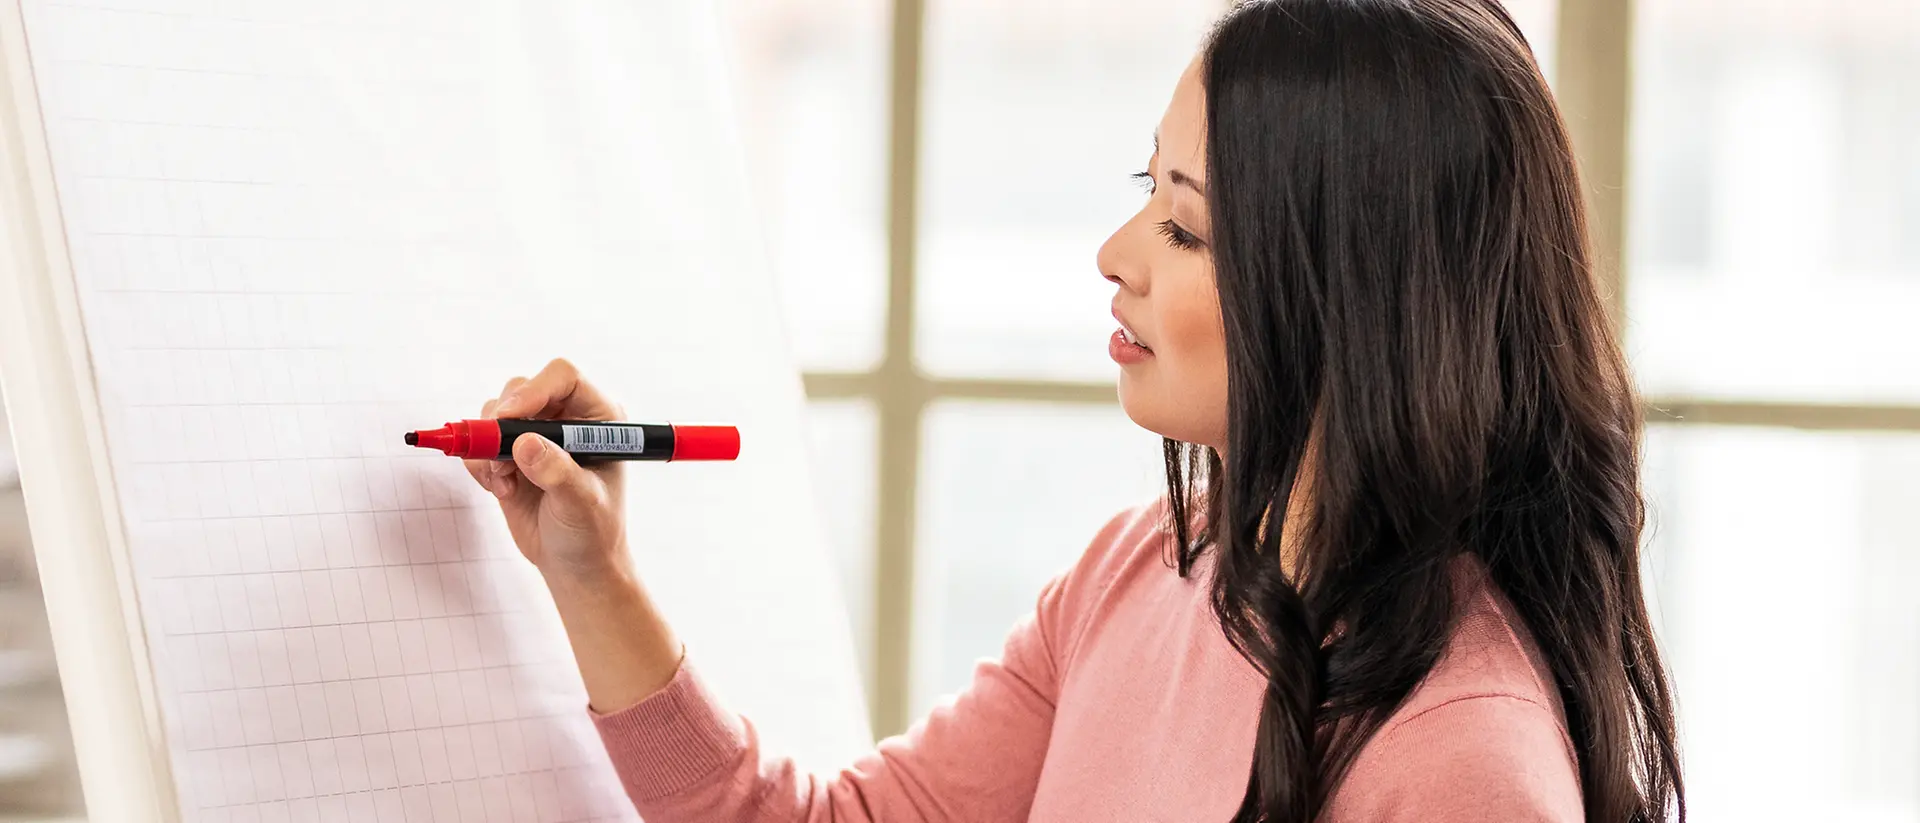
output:
[[[1094, 251], [1225, 0], [718, 0], [876, 733], [1119, 508]], [[1695, 821], [1920, 823], [1920, 0], [1513, 0], [1647, 397]], [[73, 811], [0, 451], [0, 817]]]

